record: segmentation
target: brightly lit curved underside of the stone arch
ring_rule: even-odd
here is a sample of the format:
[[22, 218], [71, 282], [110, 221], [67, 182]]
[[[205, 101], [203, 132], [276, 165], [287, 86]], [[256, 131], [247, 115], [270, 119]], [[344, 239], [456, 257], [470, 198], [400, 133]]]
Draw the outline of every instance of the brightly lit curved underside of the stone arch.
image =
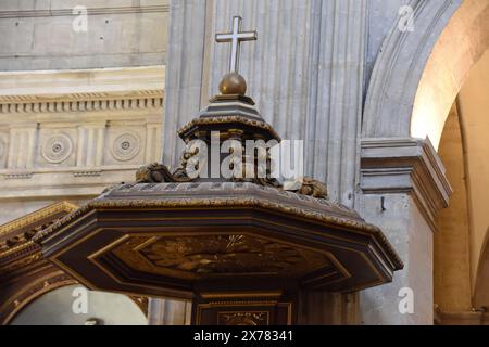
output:
[[438, 147], [453, 101], [489, 46], [489, 1], [468, 0], [437, 41], [416, 92], [411, 136]]

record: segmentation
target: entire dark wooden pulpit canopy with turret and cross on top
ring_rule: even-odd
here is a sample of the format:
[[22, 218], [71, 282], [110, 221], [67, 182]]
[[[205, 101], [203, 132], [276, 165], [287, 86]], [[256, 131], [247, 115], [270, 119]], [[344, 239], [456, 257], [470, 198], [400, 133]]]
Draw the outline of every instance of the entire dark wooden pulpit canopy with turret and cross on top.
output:
[[[402, 269], [381, 231], [330, 202], [325, 184], [286, 185], [272, 174], [281, 140], [246, 97], [239, 44], [256, 33], [240, 27], [235, 17], [233, 33], [217, 35], [233, 44], [231, 72], [178, 131], [180, 166], [143, 167], [135, 183], [106, 190], [35, 236], [86, 286], [192, 299], [195, 324], [291, 324], [301, 290], [355, 292]], [[249, 150], [250, 141], [260, 146]]]

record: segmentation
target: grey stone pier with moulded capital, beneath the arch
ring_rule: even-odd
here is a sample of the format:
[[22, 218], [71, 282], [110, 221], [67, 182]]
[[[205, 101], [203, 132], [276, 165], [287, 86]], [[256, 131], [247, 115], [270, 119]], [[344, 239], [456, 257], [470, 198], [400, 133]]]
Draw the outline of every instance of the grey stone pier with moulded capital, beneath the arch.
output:
[[435, 218], [451, 194], [438, 154], [428, 140], [365, 139], [361, 188], [361, 214], [383, 229], [405, 265], [392, 284], [361, 293], [361, 322], [432, 324]]

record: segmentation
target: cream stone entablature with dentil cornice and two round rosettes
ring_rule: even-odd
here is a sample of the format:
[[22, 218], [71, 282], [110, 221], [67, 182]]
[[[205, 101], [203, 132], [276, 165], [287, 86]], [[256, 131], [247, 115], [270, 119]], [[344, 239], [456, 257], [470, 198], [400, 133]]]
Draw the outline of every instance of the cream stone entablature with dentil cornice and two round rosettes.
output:
[[0, 74], [0, 223], [161, 158], [164, 66]]

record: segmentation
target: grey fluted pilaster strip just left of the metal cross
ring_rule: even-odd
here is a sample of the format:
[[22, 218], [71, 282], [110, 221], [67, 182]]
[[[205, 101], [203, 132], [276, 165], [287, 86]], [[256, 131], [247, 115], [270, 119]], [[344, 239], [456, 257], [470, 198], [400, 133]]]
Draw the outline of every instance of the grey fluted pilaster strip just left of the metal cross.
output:
[[163, 163], [176, 165], [183, 144], [176, 131], [200, 110], [208, 2], [172, 0], [163, 121]]

